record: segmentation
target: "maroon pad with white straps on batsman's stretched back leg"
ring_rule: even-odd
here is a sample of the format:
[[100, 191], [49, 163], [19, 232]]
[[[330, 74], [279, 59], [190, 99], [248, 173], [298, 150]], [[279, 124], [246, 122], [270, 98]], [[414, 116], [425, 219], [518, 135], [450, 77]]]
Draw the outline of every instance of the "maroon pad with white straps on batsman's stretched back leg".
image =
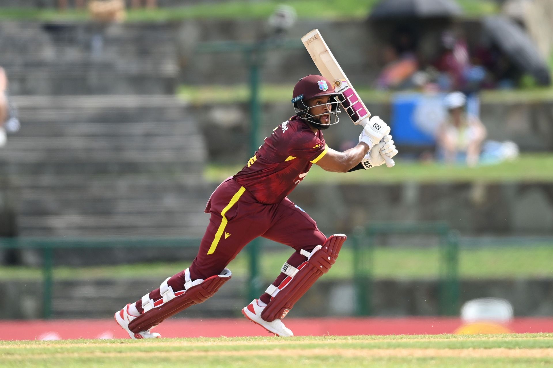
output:
[[153, 301], [150, 294], [142, 297], [142, 308], [144, 313], [129, 323], [129, 330], [134, 333], [146, 331], [161, 323], [164, 319], [173, 316], [184, 309], [200, 304], [211, 298], [219, 290], [223, 283], [230, 280], [231, 270], [224, 269], [220, 275], [215, 275], [202, 280], [192, 281], [189, 269], [185, 270], [184, 290], [173, 292], [173, 288], [167, 285], [170, 277], [161, 283], [159, 292], [161, 299]]

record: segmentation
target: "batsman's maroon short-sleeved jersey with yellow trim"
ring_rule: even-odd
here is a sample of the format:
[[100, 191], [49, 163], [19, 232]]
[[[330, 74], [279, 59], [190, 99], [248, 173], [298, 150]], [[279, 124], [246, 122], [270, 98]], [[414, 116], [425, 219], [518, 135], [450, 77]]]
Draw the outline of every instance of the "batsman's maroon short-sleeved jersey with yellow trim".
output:
[[313, 133], [297, 115], [265, 138], [234, 180], [264, 204], [284, 199], [327, 152], [322, 132]]

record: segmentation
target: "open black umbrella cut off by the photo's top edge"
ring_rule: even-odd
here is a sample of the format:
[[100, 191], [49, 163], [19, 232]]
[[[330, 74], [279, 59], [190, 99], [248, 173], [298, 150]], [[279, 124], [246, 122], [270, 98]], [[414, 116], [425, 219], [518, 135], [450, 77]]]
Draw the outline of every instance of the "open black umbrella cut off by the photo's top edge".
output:
[[463, 13], [454, 0], [381, 0], [370, 19], [454, 17]]

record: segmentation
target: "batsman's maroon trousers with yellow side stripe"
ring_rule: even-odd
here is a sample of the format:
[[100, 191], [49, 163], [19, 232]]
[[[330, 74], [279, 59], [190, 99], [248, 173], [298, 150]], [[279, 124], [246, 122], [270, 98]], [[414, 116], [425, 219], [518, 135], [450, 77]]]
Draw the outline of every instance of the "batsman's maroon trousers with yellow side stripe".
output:
[[[232, 178], [223, 181], [211, 194], [205, 212], [211, 217], [200, 250], [190, 266], [192, 280], [205, 280], [220, 274], [244, 246], [258, 236], [294, 248], [295, 253], [288, 259], [294, 267], [305, 261], [301, 249], [311, 251], [326, 240], [315, 220], [290, 199], [284, 198], [274, 204], [259, 203]], [[278, 286], [285, 277], [281, 273], [273, 285]], [[184, 290], [184, 283], [184, 272], [168, 280], [174, 291]], [[150, 298], [154, 301], [161, 298], [159, 288], [150, 292]], [[264, 294], [261, 299], [267, 303], [270, 296]], [[142, 313], [142, 301], [137, 301], [136, 305]]]

